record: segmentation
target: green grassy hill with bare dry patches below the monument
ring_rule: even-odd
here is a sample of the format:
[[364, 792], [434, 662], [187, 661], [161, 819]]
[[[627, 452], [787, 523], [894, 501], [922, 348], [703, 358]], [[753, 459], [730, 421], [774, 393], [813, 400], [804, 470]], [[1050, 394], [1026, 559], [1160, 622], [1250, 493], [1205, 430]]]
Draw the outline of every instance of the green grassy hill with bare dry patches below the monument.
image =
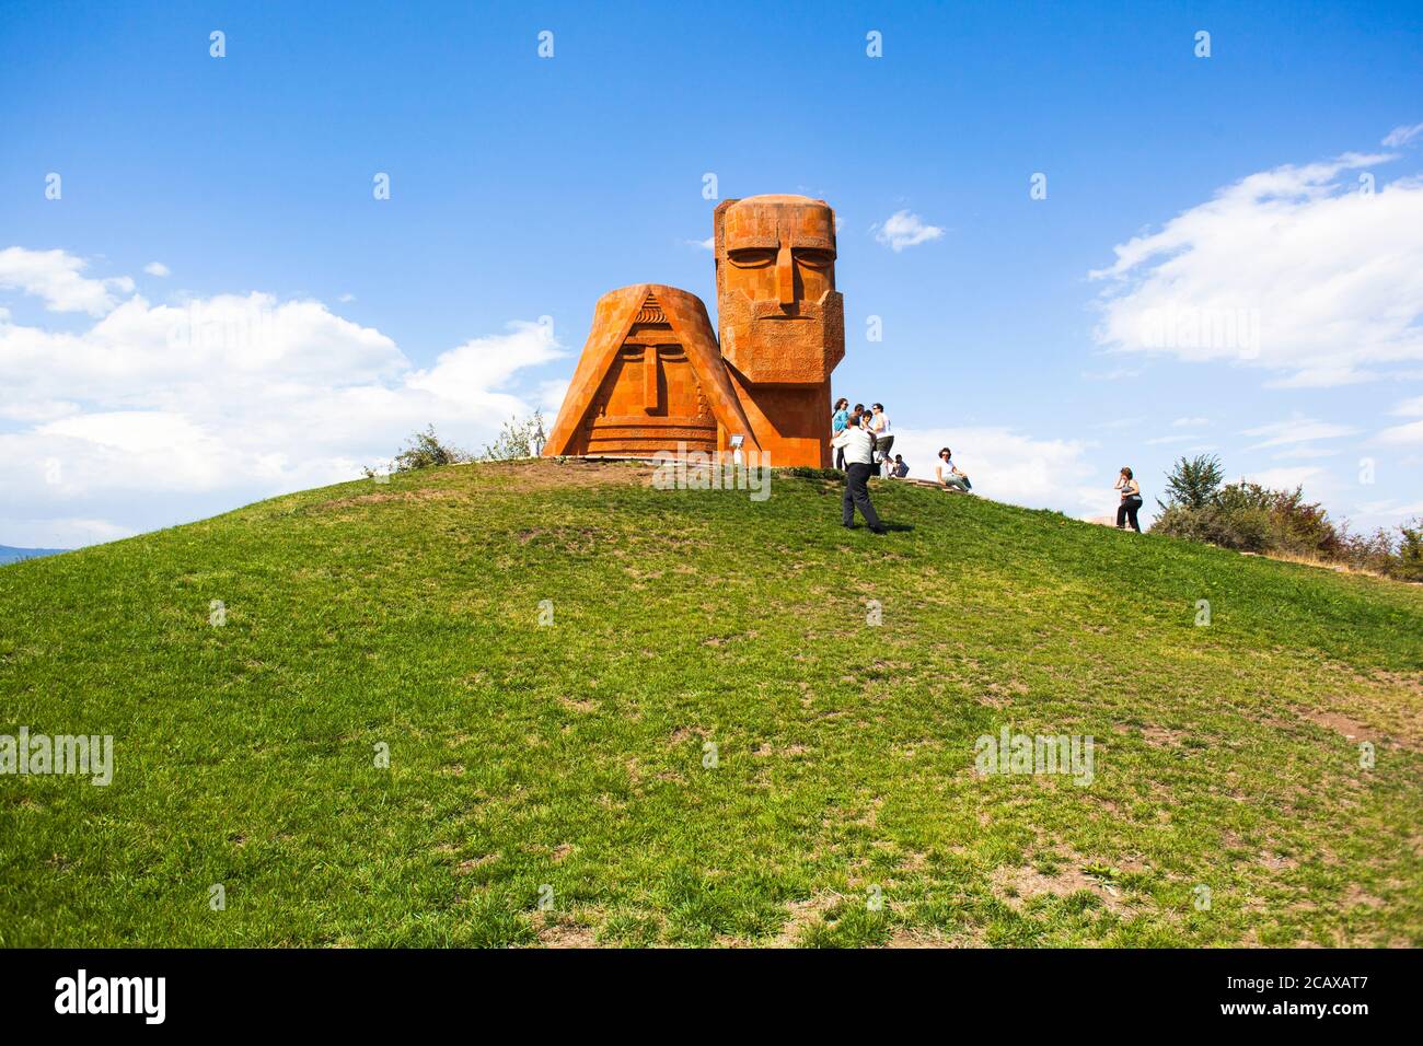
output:
[[1423, 945], [1423, 589], [875, 498], [467, 465], [7, 566], [0, 733], [115, 768], [0, 777], [0, 944]]

